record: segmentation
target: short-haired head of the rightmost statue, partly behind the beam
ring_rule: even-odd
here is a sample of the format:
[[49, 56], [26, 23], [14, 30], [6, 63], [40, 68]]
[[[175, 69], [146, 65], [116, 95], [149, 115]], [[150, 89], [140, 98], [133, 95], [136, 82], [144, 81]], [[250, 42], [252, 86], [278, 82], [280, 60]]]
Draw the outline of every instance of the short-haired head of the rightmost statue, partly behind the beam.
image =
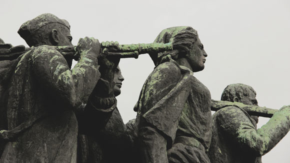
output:
[[[248, 105], [258, 105], [255, 90], [246, 84], [236, 83], [227, 85], [222, 91], [220, 100], [241, 102]], [[257, 116], [251, 116], [258, 122]]]

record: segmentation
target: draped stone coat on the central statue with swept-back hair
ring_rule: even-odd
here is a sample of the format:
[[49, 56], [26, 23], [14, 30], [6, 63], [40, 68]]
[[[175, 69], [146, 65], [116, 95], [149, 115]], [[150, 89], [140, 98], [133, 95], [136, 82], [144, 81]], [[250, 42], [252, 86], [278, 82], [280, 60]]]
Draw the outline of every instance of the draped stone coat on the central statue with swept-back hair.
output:
[[[211, 139], [210, 93], [191, 70], [172, 59], [157, 65], [145, 81], [135, 108], [137, 129], [154, 126], [166, 139], [167, 149], [175, 142], [196, 147], [204, 153], [200, 159], [209, 162], [205, 151]], [[162, 147], [153, 150], [157, 148]]]

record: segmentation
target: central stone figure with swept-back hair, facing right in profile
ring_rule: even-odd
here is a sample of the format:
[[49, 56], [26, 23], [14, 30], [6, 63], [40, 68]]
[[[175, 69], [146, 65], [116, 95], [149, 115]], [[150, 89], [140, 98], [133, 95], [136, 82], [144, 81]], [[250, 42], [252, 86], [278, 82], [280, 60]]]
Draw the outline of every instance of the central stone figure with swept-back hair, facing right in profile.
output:
[[173, 50], [150, 54], [156, 66], [134, 108], [140, 162], [209, 162], [210, 92], [193, 76], [207, 56], [198, 34], [171, 27], [154, 42], [172, 42]]

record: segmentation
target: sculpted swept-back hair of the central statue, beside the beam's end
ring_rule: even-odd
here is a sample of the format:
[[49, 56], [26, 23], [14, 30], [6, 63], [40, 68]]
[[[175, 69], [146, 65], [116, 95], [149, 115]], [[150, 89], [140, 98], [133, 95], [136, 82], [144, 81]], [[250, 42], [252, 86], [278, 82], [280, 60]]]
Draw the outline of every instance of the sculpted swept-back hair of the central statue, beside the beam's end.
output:
[[166, 56], [168, 54], [171, 56], [172, 59], [176, 60], [190, 51], [193, 43], [197, 40], [197, 37], [197, 31], [190, 26], [176, 26], [163, 29], [158, 34], [154, 42], [171, 42], [173, 50], [159, 53], [149, 53], [149, 55], [155, 65], [158, 63], [158, 61], [160, 61], [163, 56]]

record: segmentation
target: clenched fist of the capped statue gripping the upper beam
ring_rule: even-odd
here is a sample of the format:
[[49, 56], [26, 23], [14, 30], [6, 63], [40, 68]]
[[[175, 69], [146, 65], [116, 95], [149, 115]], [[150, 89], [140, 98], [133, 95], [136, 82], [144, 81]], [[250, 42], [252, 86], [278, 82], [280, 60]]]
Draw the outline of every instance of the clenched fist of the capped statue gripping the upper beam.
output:
[[98, 39], [93, 37], [79, 38], [76, 51], [81, 55], [83, 52], [91, 52], [98, 57], [100, 55], [100, 43]]

